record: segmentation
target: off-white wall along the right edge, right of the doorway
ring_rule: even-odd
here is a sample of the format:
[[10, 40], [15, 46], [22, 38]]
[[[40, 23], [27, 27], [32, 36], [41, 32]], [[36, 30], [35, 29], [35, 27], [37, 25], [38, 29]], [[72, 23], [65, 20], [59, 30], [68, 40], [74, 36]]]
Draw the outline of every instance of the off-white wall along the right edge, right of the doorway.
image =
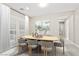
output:
[[79, 45], [79, 9], [73, 12], [69, 20], [69, 40]]

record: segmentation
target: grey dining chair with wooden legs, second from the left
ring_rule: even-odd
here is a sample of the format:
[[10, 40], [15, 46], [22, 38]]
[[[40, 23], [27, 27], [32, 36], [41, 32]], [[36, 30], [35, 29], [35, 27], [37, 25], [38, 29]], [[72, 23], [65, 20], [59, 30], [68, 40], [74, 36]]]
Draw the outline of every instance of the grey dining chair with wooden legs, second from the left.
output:
[[31, 56], [32, 55], [32, 49], [35, 49], [38, 45], [37, 45], [37, 40], [33, 40], [33, 39], [28, 39], [27, 40], [28, 43], [28, 53]]

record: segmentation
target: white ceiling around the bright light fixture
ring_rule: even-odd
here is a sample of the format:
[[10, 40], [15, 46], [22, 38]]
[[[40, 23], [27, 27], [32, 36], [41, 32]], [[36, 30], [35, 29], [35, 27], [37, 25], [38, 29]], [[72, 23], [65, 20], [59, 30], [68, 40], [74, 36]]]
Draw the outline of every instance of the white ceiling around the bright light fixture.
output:
[[[44, 8], [39, 7], [38, 3], [7, 3], [6, 5], [28, 16], [50, 15], [79, 8], [79, 3], [49, 3]], [[26, 7], [30, 9], [26, 10]], [[20, 10], [20, 8], [24, 10]]]

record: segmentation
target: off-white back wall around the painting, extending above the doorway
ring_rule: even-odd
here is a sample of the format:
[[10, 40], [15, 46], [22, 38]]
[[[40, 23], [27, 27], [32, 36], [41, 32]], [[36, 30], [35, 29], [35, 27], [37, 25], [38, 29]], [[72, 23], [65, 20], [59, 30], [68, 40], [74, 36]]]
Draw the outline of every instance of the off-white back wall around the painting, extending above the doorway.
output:
[[30, 33], [34, 31], [34, 24], [36, 21], [39, 20], [50, 20], [50, 30], [49, 30], [49, 35], [59, 35], [59, 19], [65, 20], [69, 16], [73, 14], [73, 11], [71, 12], [64, 12], [64, 13], [58, 13], [55, 15], [48, 15], [48, 16], [37, 16], [37, 17], [31, 17], [29, 21], [29, 26], [30, 26]]

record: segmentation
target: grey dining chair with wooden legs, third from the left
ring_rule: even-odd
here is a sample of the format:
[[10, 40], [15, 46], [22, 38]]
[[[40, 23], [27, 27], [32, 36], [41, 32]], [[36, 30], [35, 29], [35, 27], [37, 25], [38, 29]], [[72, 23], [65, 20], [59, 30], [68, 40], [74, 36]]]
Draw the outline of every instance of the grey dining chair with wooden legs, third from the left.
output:
[[47, 56], [49, 51], [52, 51], [53, 53], [53, 42], [50, 41], [39, 41], [39, 45], [41, 45], [41, 49], [44, 52], [44, 56]]

